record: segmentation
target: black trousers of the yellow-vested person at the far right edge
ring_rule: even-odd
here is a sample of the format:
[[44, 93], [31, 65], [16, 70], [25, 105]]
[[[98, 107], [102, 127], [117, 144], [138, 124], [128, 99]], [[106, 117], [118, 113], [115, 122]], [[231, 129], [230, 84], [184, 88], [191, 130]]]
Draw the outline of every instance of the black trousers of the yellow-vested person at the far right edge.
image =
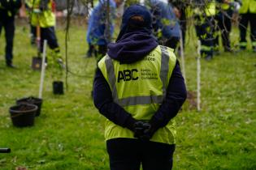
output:
[[250, 39], [252, 40], [252, 44], [254, 48], [256, 48], [256, 14], [246, 13], [241, 14], [241, 20], [239, 23], [240, 30], [240, 48], [245, 49], [247, 40], [246, 40], [246, 32], [248, 28], [248, 24], [250, 24]]

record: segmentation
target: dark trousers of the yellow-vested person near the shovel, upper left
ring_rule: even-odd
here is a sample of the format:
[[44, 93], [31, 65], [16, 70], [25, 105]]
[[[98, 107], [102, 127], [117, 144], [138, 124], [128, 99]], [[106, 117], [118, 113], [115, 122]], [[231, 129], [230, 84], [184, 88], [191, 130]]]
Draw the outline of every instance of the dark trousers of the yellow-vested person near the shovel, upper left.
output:
[[47, 45], [49, 45], [50, 49], [59, 49], [54, 27], [41, 28], [41, 53], [43, 52], [44, 40], [47, 40]]

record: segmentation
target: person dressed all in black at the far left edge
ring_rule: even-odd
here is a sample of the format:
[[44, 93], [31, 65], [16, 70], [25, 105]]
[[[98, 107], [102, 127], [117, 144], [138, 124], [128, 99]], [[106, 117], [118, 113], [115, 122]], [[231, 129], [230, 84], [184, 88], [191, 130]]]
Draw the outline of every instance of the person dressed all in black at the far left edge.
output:
[[15, 36], [15, 14], [20, 6], [20, 0], [0, 0], [0, 35], [2, 28], [4, 28], [6, 36], [6, 64], [10, 68], [15, 68], [12, 63], [12, 51]]

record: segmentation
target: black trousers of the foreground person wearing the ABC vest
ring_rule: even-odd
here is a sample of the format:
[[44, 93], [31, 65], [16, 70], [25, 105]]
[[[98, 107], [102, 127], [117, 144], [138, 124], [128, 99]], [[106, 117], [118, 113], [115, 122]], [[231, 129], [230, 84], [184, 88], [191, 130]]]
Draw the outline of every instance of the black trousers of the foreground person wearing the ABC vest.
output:
[[175, 145], [132, 138], [106, 141], [111, 170], [170, 170]]

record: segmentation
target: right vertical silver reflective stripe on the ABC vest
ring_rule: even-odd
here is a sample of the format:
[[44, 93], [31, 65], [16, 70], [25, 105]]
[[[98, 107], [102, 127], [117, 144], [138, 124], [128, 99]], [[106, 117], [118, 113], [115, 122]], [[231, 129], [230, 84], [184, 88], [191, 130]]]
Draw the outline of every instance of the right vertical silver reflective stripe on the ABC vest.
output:
[[163, 83], [163, 99], [167, 95], [167, 74], [169, 70], [169, 55], [167, 51], [167, 47], [160, 45], [160, 49], [162, 52], [162, 60], [161, 60], [161, 72], [160, 72], [160, 78]]

